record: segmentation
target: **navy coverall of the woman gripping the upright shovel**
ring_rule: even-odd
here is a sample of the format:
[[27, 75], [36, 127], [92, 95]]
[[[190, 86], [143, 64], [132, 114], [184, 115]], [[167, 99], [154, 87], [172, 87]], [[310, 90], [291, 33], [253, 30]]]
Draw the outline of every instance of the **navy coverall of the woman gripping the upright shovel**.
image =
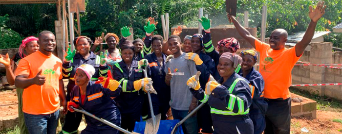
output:
[[124, 61], [116, 63], [113, 67], [113, 79], [120, 82], [122, 92], [114, 100], [121, 113], [121, 127], [132, 132], [136, 121], [140, 121], [141, 110], [143, 108], [143, 90], [135, 90], [133, 82], [144, 78], [138, 61], [133, 60], [130, 67]]

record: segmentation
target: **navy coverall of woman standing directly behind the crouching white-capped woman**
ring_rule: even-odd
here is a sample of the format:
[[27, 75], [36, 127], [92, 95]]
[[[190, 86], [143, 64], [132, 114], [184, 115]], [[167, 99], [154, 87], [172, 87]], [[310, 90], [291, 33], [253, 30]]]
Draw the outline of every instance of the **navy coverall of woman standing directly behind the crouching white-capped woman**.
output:
[[[66, 86], [66, 101], [70, 101], [70, 93], [75, 86], [74, 75], [76, 73], [77, 67], [83, 64], [92, 65], [95, 68], [95, 74], [92, 76], [91, 81], [97, 81], [99, 77], [107, 77], [108, 66], [101, 66], [101, 58], [95, 55], [92, 51], [89, 51], [90, 55], [87, 59], [84, 59], [80, 53], [76, 53], [71, 62], [63, 63], [63, 79], [69, 79]], [[65, 115], [64, 125], [62, 128], [62, 133], [64, 134], [76, 134], [77, 129], [82, 120], [82, 113], [70, 113]]]

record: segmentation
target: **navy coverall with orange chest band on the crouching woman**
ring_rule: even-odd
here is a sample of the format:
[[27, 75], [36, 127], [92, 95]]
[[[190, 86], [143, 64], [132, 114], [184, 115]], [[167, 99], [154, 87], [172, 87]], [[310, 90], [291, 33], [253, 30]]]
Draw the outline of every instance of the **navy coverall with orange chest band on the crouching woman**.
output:
[[[85, 102], [82, 102], [79, 86], [73, 88], [70, 97], [72, 98], [71, 101], [80, 105], [85, 111], [120, 126], [120, 112], [116, 107], [115, 101], [111, 99], [112, 97], [118, 96], [120, 91], [120, 86], [117, 90], [111, 91], [104, 88], [101, 84], [95, 84], [95, 82], [89, 81], [86, 86]], [[87, 125], [81, 134], [119, 134], [118, 130], [92, 117], [85, 116], [85, 122]]]

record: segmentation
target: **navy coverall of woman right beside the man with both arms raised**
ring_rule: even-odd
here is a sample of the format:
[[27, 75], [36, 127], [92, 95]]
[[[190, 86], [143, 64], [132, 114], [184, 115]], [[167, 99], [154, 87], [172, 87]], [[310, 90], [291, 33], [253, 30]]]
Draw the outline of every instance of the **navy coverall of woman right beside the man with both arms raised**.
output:
[[[239, 75], [243, 76], [243, 73]], [[249, 114], [254, 124], [254, 134], [262, 134], [266, 127], [265, 114], [267, 111], [267, 103], [264, 101], [264, 79], [254, 67], [247, 74], [246, 79], [252, 85], [253, 103], [250, 107]]]

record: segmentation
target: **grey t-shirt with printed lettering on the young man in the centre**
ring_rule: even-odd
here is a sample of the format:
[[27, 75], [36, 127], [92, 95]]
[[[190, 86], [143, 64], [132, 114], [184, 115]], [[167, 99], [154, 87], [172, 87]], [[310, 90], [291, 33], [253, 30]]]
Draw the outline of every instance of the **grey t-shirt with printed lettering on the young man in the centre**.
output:
[[[197, 72], [195, 63], [192, 60], [185, 59], [185, 52], [177, 57], [172, 58], [165, 67], [170, 67], [172, 73], [171, 101], [170, 106], [175, 110], [189, 110], [192, 100], [192, 93], [187, 85], [188, 79]], [[168, 73], [168, 69], [165, 69]]]

